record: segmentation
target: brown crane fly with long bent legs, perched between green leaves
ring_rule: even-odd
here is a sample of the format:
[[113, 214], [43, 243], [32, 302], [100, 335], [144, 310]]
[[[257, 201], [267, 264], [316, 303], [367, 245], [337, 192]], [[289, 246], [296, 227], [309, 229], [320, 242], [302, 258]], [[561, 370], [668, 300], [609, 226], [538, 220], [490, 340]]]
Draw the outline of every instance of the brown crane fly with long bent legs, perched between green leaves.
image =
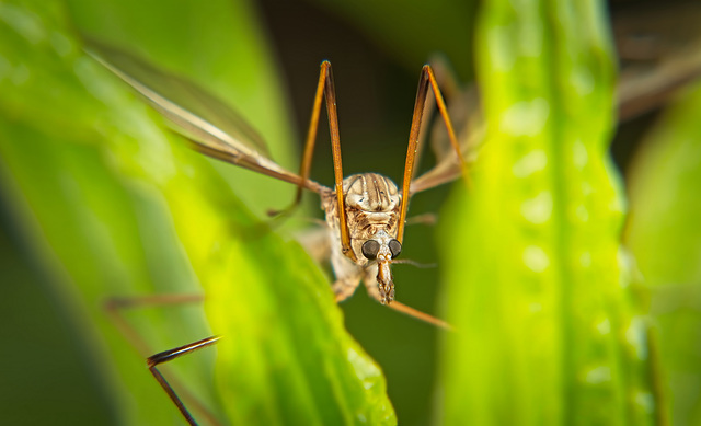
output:
[[[460, 146], [429, 65], [425, 65], [421, 71], [404, 175], [402, 185], [399, 187], [389, 177], [377, 173], [353, 174], [344, 179], [336, 94], [331, 62], [327, 60], [321, 64], [299, 173], [292, 173], [274, 162], [262, 139], [243, 119], [216, 97], [126, 54], [103, 46], [96, 47], [99, 54], [93, 54], [93, 56], [168, 118], [174, 129], [184, 136], [195, 150], [208, 157], [296, 185], [297, 192], [294, 202], [287, 209], [278, 211], [278, 214], [290, 211], [297, 207], [304, 189], [319, 194], [331, 240], [331, 264], [336, 276], [332, 288], [337, 302], [350, 297], [363, 280], [369, 295], [380, 303], [437, 326], [449, 327], [446, 322], [394, 300], [394, 281], [390, 267], [393, 262], [397, 262], [397, 257], [402, 251], [411, 196], [416, 192], [453, 180], [461, 174], [467, 176]], [[188, 99], [183, 101], [183, 99], [169, 97], [166, 94], [168, 84], [180, 85], [181, 93], [189, 93]], [[439, 158], [432, 170], [414, 179], [420, 130], [429, 89], [444, 119], [452, 146], [452, 154]], [[334, 168], [333, 188], [310, 179], [322, 100], [325, 100], [331, 133]], [[193, 298], [151, 297], [139, 300], [111, 300], [108, 312], [114, 314], [117, 322], [120, 322], [116, 313], [117, 309], [136, 304], [170, 304], [189, 301], [193, 301]], [[123, 331], [127, 329], [124, 322], [120, 323]], [[208, 337], [156, 354], [147, 360], [151, 373], [191, 425], [196, 424], [195, 419], [157, 367], [182, 355], [210, 346], [218, 339], [218, 336]]]

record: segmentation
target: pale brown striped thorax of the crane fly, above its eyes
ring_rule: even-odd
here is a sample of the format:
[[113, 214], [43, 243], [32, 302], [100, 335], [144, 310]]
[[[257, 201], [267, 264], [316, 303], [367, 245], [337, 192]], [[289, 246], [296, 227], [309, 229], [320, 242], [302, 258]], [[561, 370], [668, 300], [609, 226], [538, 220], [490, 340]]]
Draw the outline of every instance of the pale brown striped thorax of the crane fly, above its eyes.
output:
[[[401, 195], [389, 177], [377, 173], [353, 174], [343, 181], [346, 216], [350, 232], [350, 246], [358, 264], [366, 264], [361, 253], [365, 241], [384, 231], [389, 238], [397, 238]], [[322, 208], [326, 223], [340, 239], [336, 194], [322, 196]], [[340, 243], [338, 243], [340, 245]]]

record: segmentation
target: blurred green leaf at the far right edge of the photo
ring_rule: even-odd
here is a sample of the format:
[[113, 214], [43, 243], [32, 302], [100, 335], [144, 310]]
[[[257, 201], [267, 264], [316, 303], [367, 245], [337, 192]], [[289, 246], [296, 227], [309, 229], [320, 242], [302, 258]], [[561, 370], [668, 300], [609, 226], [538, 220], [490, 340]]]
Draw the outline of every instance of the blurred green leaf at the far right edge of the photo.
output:
[[[701, 423], [701, 87], [655, 125], [630, 173], [627, 243], [651, 290], [675, 425]], [[697, 336], [697, 337], [693, 337]]]

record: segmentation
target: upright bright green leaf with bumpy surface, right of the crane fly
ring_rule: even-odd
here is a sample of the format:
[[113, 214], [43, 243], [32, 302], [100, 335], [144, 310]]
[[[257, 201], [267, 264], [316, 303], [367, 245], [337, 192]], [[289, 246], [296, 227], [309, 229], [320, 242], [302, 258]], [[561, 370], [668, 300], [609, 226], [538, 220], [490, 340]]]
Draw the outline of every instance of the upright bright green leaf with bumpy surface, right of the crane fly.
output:
[[646, 320], [619, 242], [601, 2], [490, 1], [487, 136], [443, 230], [446, 424], [655, 423]]

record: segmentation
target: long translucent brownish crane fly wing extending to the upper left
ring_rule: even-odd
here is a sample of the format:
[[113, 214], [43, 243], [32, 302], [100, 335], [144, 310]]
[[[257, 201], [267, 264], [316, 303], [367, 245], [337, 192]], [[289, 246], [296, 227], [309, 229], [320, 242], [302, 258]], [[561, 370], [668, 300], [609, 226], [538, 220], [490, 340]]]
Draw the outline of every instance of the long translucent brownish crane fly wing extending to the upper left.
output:
[[216, 96], [115, 48], [92, 42], [90, 54], [139, 92], [197, 151], [319, 191], [315, 182], [302, 180], [273, 161], [260, 135]]

